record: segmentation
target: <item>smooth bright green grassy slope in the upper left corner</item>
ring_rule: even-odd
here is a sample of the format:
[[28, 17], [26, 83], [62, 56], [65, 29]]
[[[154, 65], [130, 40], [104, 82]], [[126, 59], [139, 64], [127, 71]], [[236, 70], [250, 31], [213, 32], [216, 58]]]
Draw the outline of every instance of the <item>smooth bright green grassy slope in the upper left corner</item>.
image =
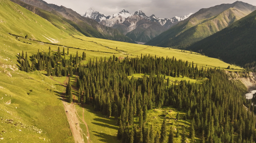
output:
[[1, 0], [0, 31], [22, 36], [28, 35], [28, 38], [40, 41], [57, 42], [58, 39], [68, 36], [64, 30], [58, 29], [48, 20], [18, 4], [9, 0]]

